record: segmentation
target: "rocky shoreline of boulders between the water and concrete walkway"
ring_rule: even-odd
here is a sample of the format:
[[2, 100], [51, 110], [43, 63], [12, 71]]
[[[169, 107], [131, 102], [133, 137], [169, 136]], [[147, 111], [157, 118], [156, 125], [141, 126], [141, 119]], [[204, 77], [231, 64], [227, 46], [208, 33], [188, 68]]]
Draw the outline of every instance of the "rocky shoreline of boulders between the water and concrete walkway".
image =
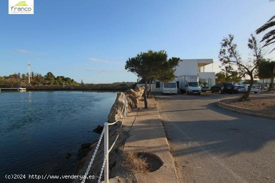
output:
[[[144, 87], [136, 87], [134, 89], [127, 89], [125, 92], [117, 93], [116, 99], [110, 109], [108, 115], [108, 123], [112, 123], [116, 120], [118, 122], [115, 125], [109, 126], [109, 146], [114, 142], [116, 136], [119, 134], [118, 140], [115, 143], [113, 149], [109, 153], [109, 178], [115, 178], [121, 183], [135, 183], [135, 177], [133, 173], [126, 167], [123, 166], [123, 153], [120, 150], [124, 146], [126, 139], [128, 138], [129, 127], [122, 124], [121, 114], [123, 114], [124, 98], [126, 97], [126, 109], [127, 112], [131, 110], [137, 110], [139, 108], [139, 102], [142, 101], [142, 95], [144, 92]], [[94, 132], [101, 133], [102, 127], [97, 126]], [[90, 158], [95, 149], [98, 139], [90, 144], [83, 144], [78, 151], [79, 164], [76, 167], [76, 175], [83, 176], [85, 174], [86, 168], [90, 161]], [[103, 139], [98, 148], [97, 154], [95, 156], [94, 162], [90, 168], [88, 175], [93, 175], [95, 179], [86, 180], [86, 183], [97, 182], [98, 175], [103, 162]], [[101, 180], [103, 180], [103, 176]], [[80, 183], [81, 180], [73, 180], [73, 183]]]

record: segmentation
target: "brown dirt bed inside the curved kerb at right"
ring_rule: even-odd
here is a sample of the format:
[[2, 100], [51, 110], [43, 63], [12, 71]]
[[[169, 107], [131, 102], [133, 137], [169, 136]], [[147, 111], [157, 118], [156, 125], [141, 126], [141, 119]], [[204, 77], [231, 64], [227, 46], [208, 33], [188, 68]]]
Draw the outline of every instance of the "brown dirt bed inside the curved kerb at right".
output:
[[264, 111], [274, 111], [275, 110], [275, 98], [256, 98], [250, 99], [249, 101], [236, 102], [233, 101], [229, 105], [235, 107], [241, 107], [253, 110], [264, 110]]

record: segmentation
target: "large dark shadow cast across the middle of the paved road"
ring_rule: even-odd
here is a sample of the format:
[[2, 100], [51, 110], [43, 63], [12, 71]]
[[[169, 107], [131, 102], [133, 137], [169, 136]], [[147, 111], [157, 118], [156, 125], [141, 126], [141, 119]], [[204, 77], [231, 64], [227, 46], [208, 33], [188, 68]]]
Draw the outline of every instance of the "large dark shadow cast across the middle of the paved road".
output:
[[[274, 143], [275, 120], [220, 109], [215, 102], [206, 107], [232, 119], [162, 121], [168, 141], [182, 147], [172, 151], [173, 156], [207, 152], [228, 157], [243, 152], [255, 152], [266, 143]], [[275, 153], [274, 149], [270, 155], [272, 153]]]

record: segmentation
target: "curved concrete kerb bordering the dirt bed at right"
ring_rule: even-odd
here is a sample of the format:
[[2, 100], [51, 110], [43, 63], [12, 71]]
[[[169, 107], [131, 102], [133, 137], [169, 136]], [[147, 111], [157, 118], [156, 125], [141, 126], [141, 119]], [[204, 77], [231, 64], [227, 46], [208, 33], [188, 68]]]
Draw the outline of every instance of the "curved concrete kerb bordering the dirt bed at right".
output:
[[[233, 99], [236, 99], [236, 98], [233, 98]], [[229, 100], [232, 100], [232, 98], [219, 99], [219, 100], [217, 100], [216, 105], [218, 107], [221, 107], [221, 108], [229, 110], [229, 111], [275, 120], [275, 114], [272, 114], [270, 112], [258, 111], [258, 110], [241, 108], [241, 107], [235, 107], [235, 106], [223, 103], [224, 101], [229, 101]]]

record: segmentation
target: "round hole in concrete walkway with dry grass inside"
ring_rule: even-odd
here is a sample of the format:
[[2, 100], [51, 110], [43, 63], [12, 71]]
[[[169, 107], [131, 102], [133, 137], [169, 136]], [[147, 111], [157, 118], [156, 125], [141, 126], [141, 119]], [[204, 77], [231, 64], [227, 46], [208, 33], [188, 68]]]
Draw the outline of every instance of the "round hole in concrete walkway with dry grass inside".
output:
[[125, 163], [129, 169], [139, 173], [154, 172], [163, 165], [159, 157], [144, 152], [126, 154]]

